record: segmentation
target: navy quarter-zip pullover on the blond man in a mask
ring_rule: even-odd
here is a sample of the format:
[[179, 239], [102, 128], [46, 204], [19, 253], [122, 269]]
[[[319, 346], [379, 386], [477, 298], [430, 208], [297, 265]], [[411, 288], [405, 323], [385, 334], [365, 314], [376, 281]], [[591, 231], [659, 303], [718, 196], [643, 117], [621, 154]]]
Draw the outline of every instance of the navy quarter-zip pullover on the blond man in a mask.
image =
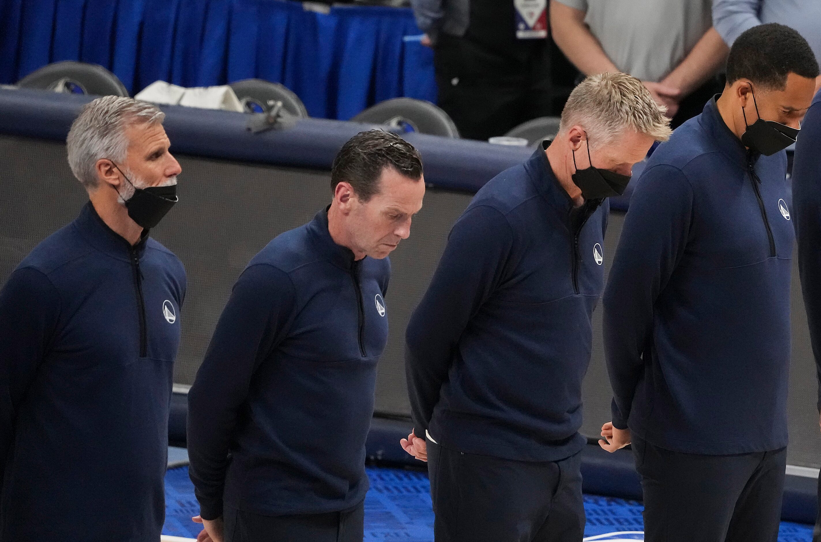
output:
[[417, 436], [512, 460], [580, 451], [607, 218], [606, 201], [574, 207], [544, 149], [477, 192], [407, 328]]

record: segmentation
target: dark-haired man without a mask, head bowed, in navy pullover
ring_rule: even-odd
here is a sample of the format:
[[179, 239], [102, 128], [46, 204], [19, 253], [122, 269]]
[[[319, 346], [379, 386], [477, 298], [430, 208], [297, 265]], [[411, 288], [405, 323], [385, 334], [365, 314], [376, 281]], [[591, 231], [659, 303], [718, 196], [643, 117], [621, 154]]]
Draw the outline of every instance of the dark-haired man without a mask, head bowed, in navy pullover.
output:
[[237, 280], [190, 389], [202, 540], [362, 540], [387, 256], [424, 179], [416, 149], [377, 130], [342, 147], [331, 177], [331, 204]]

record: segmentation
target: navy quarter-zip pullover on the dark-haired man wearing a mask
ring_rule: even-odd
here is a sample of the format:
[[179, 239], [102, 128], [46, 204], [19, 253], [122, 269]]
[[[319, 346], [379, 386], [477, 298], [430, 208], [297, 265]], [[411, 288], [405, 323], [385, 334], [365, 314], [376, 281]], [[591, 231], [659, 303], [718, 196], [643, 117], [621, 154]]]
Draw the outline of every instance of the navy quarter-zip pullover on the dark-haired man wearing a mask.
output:
[[649, 158], [603, 299], [612, 421], [677, 452], [787, 446], [793, 230], [784, 152], [716, 100]]

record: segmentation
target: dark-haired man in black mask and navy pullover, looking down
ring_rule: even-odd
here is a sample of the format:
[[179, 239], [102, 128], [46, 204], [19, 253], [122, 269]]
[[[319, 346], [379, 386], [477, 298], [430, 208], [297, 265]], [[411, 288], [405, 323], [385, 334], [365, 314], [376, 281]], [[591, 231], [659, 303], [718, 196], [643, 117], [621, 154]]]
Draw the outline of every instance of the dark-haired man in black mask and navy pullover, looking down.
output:
[[777, 539], [793, 229], [784, 150], [819, 66], [795, 30], [736, 39], [727, 86], [640, 177], [603, 297], [608, 451], [633, 444], [645, 540]]

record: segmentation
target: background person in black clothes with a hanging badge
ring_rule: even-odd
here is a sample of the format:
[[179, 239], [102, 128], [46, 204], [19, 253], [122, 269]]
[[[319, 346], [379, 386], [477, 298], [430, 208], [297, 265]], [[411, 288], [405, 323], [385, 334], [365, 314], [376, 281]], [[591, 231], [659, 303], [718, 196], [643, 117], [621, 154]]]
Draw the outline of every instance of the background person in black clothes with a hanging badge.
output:
[[488, 140], [553, 114], [547, 0], [411, 0], [433, 48], [437, 103], [462, 137]]

